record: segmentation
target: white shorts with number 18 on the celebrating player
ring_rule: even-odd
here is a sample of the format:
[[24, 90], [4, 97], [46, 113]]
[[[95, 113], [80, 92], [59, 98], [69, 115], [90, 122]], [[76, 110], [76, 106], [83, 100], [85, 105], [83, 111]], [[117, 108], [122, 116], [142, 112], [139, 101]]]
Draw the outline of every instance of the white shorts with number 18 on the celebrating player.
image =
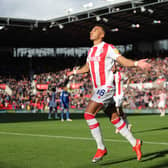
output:
[[113, 104], [115, 88], [112, 86], [100, 86], [94, 90], [91, 100], [100, 103], [100, 104]]

